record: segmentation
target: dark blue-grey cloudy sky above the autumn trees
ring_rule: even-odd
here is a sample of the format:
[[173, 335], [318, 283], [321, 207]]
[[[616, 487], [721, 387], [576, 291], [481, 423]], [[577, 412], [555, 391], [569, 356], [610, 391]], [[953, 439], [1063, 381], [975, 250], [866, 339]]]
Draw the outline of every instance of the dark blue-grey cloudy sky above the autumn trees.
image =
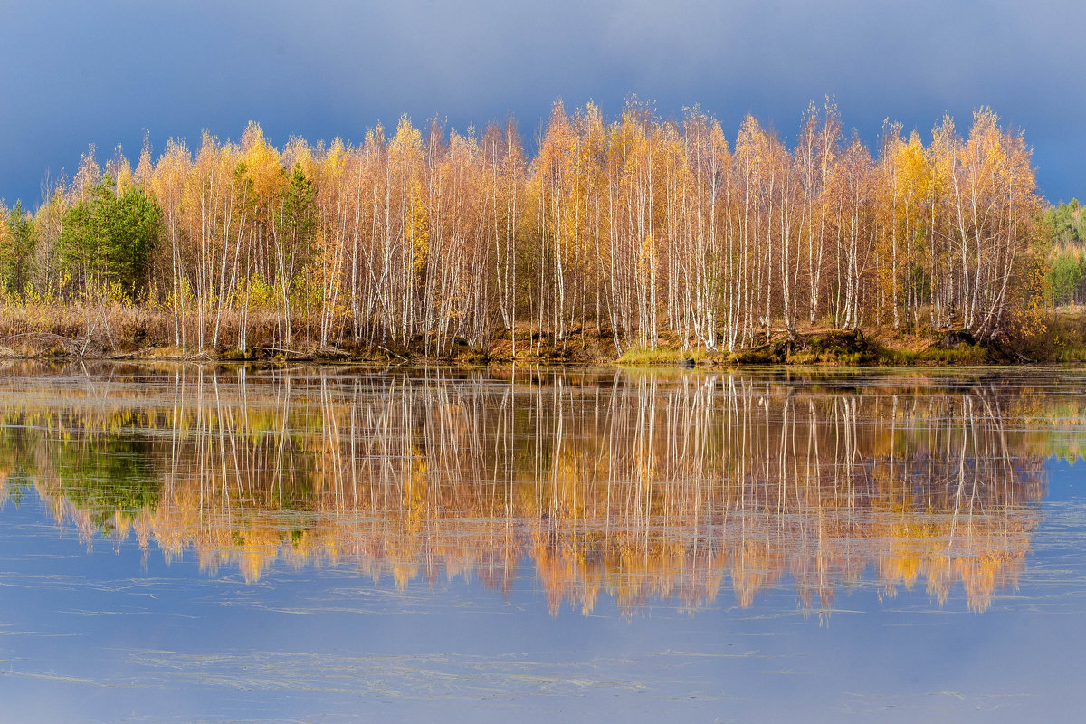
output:
[[533, 137], [556, 99], [699, 104], [794, 138], [832, 94], [869, 144], [992, 106], [1025, 132], [1040, 192], [1086, 196], [1082, 0], [15, 2], [0, 0], [0, 199], [40, 201], [89, 143], [139, 154], [260, 123], [277, 144], [359, 141], [401, 114], [465, 129], [512, 112]]

